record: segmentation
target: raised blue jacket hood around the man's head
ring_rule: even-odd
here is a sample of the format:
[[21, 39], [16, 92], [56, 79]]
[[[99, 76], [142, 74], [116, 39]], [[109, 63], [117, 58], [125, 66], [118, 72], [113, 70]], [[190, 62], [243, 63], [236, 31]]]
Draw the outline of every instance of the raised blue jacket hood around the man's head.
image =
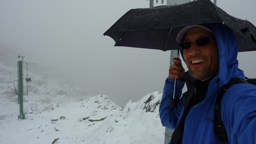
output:
[[[219, 72], [212, 81], [218, 83], [217, 87], [219, 88], [234, 77], [245, 79], [244, 72], [238, 68], [238, 43], [233, 31], [222, 23], [205, 25], [214, 33], [219, 50]], [[183, 50], [181, 50], [181, 56], [184, 60]], [[210, 84], [209, 87], [215, 86], [214, 83]]]

